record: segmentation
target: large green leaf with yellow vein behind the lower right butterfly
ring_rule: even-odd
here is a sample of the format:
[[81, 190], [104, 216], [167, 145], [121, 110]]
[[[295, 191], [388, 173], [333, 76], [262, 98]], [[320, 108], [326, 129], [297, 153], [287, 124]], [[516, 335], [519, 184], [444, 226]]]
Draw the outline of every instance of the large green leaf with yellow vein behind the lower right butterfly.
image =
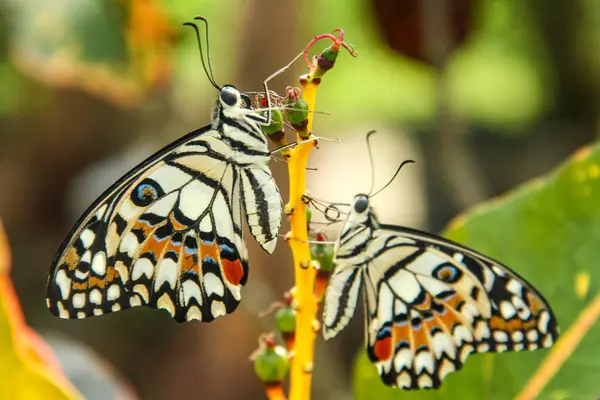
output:
[[[548, 176], [467, 212], [444, 236], [502, 261], [531, 282], [552, 306], [563, 336], [582, 331], [572, 324], [600, 293], [600, 145], [579, 150]], [[595, 313], [589, 331], [549, 376], [540, 399], [598, 398], [600, 311]], [[549, 350], [536, 350], [472, 355], [440, 390], [406, 392], [384, 387], [361, 351], [355, 368], [356, 399], [513, 399], [547, 362], [548, 354]]]

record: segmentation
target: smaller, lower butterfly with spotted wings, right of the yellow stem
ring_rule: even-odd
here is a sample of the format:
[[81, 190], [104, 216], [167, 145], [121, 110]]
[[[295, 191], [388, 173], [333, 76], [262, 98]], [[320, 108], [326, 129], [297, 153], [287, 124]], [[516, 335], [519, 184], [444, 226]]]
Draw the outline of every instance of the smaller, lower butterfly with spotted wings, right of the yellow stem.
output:
[[472, 353], [556, 341], [556, 318], [525, 279], [466, 246], [381, 224], [369, 199], [354, 197], [334, 247], [326, 340], [348, 325], [362, 288], [367, 354], [389, 386], [438, 388]]

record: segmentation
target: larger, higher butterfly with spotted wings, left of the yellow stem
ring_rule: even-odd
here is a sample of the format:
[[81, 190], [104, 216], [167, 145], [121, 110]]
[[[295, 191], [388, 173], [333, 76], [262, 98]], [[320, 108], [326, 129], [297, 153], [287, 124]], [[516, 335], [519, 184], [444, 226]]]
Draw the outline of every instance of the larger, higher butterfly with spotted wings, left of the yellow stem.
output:
[[210, 322], [237, 308], [248, 279], [242, 213], [262, 248], [275, 249], [282, 203], [261, 130], [270, 114], [207, 75], [219, 91], [212, 124], [119, 179], [60, 246], [47, 282], [54, 315], [143, 305], [177, 322]]

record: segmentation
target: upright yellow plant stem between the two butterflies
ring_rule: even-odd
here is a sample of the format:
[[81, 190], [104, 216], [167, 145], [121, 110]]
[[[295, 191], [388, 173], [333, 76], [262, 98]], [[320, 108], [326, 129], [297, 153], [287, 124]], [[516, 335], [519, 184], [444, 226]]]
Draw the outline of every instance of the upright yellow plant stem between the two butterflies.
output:
[[[315, 109], [318, 83], [310, 76], [300, 79], [304, 100], [308, 109]], [[313, 113], [308, 113], [308, 131], [312, 131]], [[306, 192], [306, 163], [314, 141], [304, 142], [297, 138], [298, 146], [288, 159], [290, 178], [290, 201], [285, 211], [289, 213], [291, 234], [289, 245], [294, 257], [293, 291], [297, 304], [295, 349], [291, 366], [290, 400], [310, 399], [313, 355], [315, 338], [318, 332], [318, 301], [314, 295], [316, 270], [311, 265], [310, 248], [307, 243], [306, 204], [303, 195]]]

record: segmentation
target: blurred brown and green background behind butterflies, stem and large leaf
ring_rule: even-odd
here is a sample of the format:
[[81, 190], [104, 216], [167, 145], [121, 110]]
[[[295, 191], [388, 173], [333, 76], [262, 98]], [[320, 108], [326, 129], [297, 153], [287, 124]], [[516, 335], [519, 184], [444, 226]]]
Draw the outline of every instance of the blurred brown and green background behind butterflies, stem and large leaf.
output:
[[[210, 21], [217, 82], [244, 91], [261, 90], [313, 36], [345, 30], [358, 57], [342, 52], [324, 77], [317, 108], [330, 115], [314, 124], [341, 143], [320, 143], [308, 186], [342, 202], [368, 190], [364, 138], [377, 129], [376, 186], [417, 161], [376, 199], [387, 223], [439, 232], [599, 133], [595, 0], [0, 0], [0, 218], [12, 277], [28, 324], [89, 398], [264, 398], [249, 356], [273, 329], [257, 314], [293, 282], [283, 243], [267, 257], [248, 239], [242, 306], [210, 325], [146, 309], [65, 321], [45, 306], [50, 262], [80, 213], [147, 155], [209, 123], [216, 93], [181, 25], [194, 15]], [[306, 71], [300, 60], [270, 87], [282, 93]], [[272, 168], [285, 201], [286, 167]], [[352, 398], [361, 324], [319, 339], [315, 398]], [[115, 380], [121, 389], [108, 392]]]

